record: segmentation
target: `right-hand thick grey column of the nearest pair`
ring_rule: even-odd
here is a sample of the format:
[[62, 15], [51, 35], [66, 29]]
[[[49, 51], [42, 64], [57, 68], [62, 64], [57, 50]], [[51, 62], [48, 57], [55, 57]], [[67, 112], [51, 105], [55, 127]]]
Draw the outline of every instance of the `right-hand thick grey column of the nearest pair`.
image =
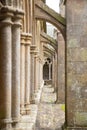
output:
[[20, 119], [20, 17], [14, 16], [12, 26], [12, 119]]

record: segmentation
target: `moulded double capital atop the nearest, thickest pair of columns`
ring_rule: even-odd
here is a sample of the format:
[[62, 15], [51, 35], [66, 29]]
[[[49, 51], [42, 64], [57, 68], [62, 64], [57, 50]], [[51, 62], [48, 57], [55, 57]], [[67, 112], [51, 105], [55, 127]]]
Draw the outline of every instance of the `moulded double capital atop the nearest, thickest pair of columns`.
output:
[[23, 14], [22, 10], [14, 9], [11, 6], [2, 6], [0, 9], [0, 25], [10, 25], [14, 22], [16, 26], [21, 26], [20, 20], [23, 18]]

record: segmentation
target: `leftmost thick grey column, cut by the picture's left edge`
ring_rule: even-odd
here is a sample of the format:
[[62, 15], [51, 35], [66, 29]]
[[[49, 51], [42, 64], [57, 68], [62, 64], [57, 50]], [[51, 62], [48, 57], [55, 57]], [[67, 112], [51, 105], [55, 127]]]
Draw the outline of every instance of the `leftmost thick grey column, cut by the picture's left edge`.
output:
[[0, 20], [0, 129], [11, 128], [11, 46], [12, 14]]

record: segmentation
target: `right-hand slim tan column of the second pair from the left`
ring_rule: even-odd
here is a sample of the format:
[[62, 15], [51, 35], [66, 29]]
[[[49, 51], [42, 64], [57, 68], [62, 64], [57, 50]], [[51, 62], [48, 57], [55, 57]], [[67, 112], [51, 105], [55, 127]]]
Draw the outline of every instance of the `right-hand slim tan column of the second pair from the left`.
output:
[[27, 114], [30, 105], [30, 45], [31, 35], [27, 35], [25, 44], [25, 107]]

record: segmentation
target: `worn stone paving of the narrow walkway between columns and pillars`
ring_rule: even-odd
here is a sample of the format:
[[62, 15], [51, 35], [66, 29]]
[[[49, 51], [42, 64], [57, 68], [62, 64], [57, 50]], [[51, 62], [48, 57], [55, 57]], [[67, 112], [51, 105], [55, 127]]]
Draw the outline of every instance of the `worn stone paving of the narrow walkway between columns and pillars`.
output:
[[61, 130], [65, 113], [62, 104], [55, 104], [56, 94], [50, 85], [42, 90], [35, 130]]

